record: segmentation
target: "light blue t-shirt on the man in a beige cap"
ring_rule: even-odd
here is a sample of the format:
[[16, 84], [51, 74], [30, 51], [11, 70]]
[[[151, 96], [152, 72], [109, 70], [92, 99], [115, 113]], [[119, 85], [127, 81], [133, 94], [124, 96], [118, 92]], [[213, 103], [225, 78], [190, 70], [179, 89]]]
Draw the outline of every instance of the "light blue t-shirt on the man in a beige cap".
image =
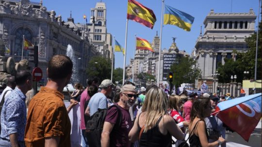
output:
[[99, 109], [107, 109], [107, 98], [102, 93], [96, 93], [89, 101], [90, 116], [96, 113]]

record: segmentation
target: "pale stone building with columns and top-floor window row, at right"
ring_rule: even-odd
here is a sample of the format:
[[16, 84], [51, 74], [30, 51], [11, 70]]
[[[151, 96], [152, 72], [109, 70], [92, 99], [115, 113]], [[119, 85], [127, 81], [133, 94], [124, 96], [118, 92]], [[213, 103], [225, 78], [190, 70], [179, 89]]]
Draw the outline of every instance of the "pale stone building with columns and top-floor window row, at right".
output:
[[224, 65], [225, 58], [237, 58], [233, 50], [246, 52], [245, 39], [255, 31], [255, 13], [214, 13], [210, 11], [204, 20], [193, 58], [202, 71], [202, 80], [212, 80], [218, 65]]

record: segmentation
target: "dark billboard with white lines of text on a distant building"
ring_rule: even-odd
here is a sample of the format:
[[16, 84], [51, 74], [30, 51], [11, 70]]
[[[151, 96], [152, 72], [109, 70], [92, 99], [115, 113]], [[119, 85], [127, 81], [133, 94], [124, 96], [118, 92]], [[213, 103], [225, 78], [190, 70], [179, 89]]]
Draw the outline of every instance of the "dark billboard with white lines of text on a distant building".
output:
[[165, 53], [163, 56], [163, 81], [167, 81], [167, 75], [169, 74], [172, 64], [179, 63], [178, 53]]

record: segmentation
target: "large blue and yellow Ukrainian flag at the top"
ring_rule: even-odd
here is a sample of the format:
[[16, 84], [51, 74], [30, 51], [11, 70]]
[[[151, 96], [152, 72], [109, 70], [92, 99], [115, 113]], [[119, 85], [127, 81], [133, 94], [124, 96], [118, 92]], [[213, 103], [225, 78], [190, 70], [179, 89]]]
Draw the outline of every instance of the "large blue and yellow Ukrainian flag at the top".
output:
[[168, 5], [164, 5], [164, 24], [171, 24], [190, 31], [194, 17]]

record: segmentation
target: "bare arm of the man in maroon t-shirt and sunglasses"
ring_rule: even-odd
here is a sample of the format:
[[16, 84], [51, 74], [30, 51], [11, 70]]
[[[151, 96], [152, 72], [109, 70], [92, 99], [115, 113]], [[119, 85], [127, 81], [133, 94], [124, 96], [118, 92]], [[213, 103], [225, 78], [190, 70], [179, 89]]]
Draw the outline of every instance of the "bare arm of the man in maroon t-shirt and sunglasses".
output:
[[104, 122], [103, 131], [101, 134], [101, 147], [109, 147], [110, 145], [110, 133], [114, 128], [113, 123]]

